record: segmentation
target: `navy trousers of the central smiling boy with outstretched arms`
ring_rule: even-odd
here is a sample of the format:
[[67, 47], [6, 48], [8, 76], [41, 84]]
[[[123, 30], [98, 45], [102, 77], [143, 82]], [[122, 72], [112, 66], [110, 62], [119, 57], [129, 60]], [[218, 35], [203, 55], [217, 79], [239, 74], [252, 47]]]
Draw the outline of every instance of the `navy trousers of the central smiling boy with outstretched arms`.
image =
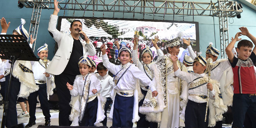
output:
[[113, 127], [132, 127], [134, 97], [115, 95], [113, 109]]

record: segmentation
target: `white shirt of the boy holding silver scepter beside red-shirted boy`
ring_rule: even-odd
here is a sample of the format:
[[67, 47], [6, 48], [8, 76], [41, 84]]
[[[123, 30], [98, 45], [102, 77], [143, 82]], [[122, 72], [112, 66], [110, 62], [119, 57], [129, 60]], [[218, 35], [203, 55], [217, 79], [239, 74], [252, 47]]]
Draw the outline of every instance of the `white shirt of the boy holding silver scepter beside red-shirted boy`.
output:
[[[188, 73], [188, 72], [183, 72], [180, 69], [178, 69], [176, 72], [174, 72], [174, 74], [175, 74], [175, 76], [179, 77], [180, 79], [183, 79], [183, 80], [187, 81], [188, 83], [194, 81], [198, 77], [204, 77], [205, 76], [205, 73], [203, 73], [203, 74]], [[197, 103], [205, 103], [205, 101], [195, 99], [195, 98], [191, 97], [191, 95], [205, 95], [205, 96], [207, 96], [207, 91], [208, 91], [208, 89], [207, 89], [207, 83], [206, 83], [202, 86], [199, 86], [197, 88], [189, 90], [188, 91], [188, 93], [189, 93], [188, 99], [192, 100], [193, 102], [197, 102]], [[215, 93], [215, 91], [214, 91], [214, 89], [212, 89], [210, 91], [210, 95], [209, 95], [210, 99], [214, 99], [214, 93]]]

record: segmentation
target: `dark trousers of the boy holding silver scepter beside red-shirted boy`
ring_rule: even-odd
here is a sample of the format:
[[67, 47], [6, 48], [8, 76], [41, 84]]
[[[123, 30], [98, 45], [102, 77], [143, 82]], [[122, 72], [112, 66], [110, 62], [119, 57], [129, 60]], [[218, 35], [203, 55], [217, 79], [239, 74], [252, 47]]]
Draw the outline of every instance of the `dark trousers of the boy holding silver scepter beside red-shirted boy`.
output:
[[206, 103], [196, 103], [188, 101], [185, 110], [185, 127], [186, 128], [207, 128], [209, 120], [209, 108], [205, 122]]

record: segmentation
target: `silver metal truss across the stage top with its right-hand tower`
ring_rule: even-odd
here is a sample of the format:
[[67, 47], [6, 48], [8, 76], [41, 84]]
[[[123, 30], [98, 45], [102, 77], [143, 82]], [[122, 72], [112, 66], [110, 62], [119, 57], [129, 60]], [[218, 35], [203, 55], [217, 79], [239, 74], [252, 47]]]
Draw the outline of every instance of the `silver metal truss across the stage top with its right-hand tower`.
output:
[[[53, 0], [19, 0], [19, 2], [26, 8], [35, 8], [35, 5], [39, 5], [43, 9], [54, 9]], [[64, 10], [64, 16], [65, 10], [73, 10], [73, 16], [81, 11], [82, 13], [77, 13], [76, 16], [83, 17], [88, 11], [93, 12], [93, 17], [95, 12], [102, 12], [103, 17], [105, 12], [112, 12], [113, 17], [115, 13], [123, 13], [123, 18], [125, 13], [133, 13], [133, 18], [139, 13], [143, 14], [143, 19], [145, 15], [152, 15], [153, 19], [163, 17], [163, 20], [165, 17], [173, 17], [175, 20], [175, 17], [179, 16], [183, 17], [183, 21], [185, 16], [192, 16], [193, 21], [194, 16], [219, 17], [222, 58], [226, 56], [224, 50], [229, 38], [227, 17], [235, 17], [242, 13], [242, 10], [237, 9], [238, 3], [229, 0], [218, 0], [216, 3], [169, 0], [59, 0], [58, 6]]]

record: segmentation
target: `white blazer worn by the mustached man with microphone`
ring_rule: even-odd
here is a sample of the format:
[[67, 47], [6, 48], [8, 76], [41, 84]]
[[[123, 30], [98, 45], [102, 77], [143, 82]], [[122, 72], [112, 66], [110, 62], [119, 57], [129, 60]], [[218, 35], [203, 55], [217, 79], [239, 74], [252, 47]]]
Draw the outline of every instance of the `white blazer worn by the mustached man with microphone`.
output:
[[[74, 39], [71, 35], [67, 35], [65, 32], [60, 32], [56, 29], [57, 19], [57, 15], [51, 15], [48, 27], [48, 31], [52, 33], [54, 40], [58, 43], [58, 50], [46, 69], [46, 72], [54, 75], [59, 75], [64, 71], [69, 61], [74, 43]], [[83, 45], [83, 54], [86, 52], [88, 52], [89, 56], [94, 56], [96, 54], [92, 42], [87, 44], [85, 41], [81, 41], [81, 44]]]

